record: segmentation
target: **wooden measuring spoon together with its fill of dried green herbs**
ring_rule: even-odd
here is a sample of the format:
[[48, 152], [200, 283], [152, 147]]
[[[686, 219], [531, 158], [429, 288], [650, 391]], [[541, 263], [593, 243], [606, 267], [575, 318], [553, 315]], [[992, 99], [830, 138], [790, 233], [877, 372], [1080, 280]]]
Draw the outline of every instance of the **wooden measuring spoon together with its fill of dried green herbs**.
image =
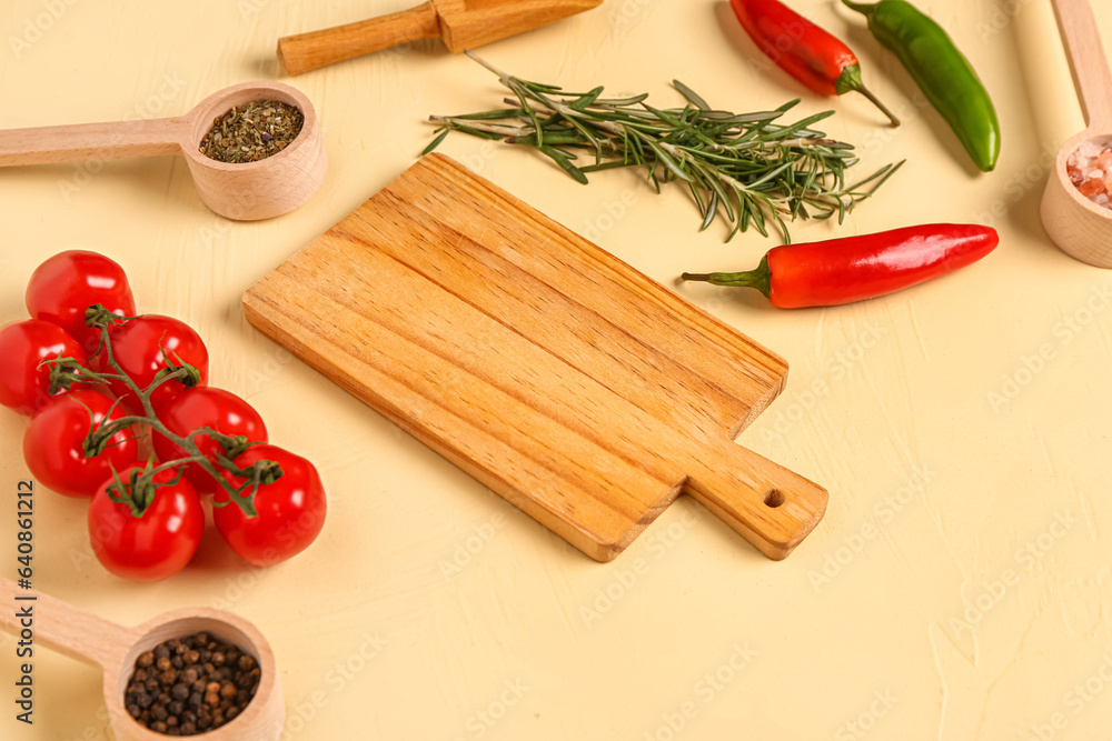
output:
[[177, 118], [0, 131], [0, 167], [166, 154], [185, 157], [205, 206], [238, 221], [292, 211], [328, 169], [312, 103], [280, 82], [225, 88]]

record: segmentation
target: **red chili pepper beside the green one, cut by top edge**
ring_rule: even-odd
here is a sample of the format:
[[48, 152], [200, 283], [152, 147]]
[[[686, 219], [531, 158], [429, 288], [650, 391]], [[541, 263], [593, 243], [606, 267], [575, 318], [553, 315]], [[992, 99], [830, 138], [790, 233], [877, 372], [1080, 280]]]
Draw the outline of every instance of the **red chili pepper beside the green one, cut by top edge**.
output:
[[841, 96], [855, 90], [900, 126], [900, 119], [861, 81], [861, 64], [842, 43], [778, 0], [729, 0], [742, 28], [768, 59], [811, 90]]

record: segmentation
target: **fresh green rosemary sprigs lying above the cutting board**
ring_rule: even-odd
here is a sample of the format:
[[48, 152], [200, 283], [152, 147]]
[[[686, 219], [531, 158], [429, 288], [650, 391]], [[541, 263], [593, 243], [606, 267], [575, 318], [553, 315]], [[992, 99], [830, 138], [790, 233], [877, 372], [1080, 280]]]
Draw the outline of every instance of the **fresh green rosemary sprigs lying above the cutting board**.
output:
[[[603, 88], [566, 92], [552, 84], [513, 77], [471, 53], [509, 89], [509, 108], [463, 116], [430, 116], [437, 137], [421, 154], [436, 149], [450, 131], [510, 144], [534, 147], [575, 180], [616, 167], [642, 167], [656, 191], [662, 182], [684, 182], [698, 207], [702, 229], [719, 214], [733, 224], [726, 241], [754, 227], [768, 236], [770, 220], [790, 242], [786, 221], [828, 219], [838, 223], [854, 204], [873, 194], [903, 162], [886, 164], [864, 180], [846, 184], [845, 171], [857, 162], [853, 147], [812, 128], [834, 114], [816, 113], [795, 123], [778, 120], [798, 100], [774, 111], [732, 113], [711, 106], [678, 80], [673, 84], [687, 103], [657, 109], [646, 94], [604, 98]], [[593, 163], [577, 164], [586, 150]]]

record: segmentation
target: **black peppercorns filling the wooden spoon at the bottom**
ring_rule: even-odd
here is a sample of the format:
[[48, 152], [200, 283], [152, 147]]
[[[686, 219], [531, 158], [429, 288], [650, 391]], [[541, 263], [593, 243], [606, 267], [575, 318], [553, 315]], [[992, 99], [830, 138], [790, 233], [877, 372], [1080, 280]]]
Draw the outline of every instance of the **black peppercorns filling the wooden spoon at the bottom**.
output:
[[244, 711], [261, 670], [239, 648], [196, 633], [139, 654], [123, 704], [139, 723], [167, 735], [197, 735]]

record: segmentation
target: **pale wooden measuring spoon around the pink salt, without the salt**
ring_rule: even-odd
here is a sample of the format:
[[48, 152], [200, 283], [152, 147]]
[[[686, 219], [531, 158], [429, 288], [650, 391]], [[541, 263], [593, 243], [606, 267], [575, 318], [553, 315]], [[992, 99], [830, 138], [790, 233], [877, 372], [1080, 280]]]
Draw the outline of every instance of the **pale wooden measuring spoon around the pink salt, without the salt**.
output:
[[1082, 196], [1065, 169], [1070, 154], [1082, 142], [1091, 141], [1101, 148], [1112, 143], [1112, 73], [1088, 0], [1052, 1], [1089, 128], [1070, 138], [1058, 152], [1043, 192], [1043, 228], [1066, 254], [1099, 268], [1112, 268], [1112, 209]]

